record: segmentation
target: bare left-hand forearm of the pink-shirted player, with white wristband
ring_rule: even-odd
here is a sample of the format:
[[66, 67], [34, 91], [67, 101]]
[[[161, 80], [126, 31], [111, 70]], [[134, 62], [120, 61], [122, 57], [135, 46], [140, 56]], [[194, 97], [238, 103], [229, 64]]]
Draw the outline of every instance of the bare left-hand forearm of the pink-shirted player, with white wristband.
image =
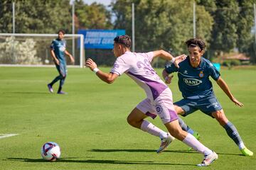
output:
[[97, 77], [99, 77], [102, 81], [105, 81], [107, 84], [112, 84], [118, 77], [118, 75], [114, 73], [102, 72], [97, 68], [97, 64], [92, 59], [86, 60], [85, 65], [95, 72]]

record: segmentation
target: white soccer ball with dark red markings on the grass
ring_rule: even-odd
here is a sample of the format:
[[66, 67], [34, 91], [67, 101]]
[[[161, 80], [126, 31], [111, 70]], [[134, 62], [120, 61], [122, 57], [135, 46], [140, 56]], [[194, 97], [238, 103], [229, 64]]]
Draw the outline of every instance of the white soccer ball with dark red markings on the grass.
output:
[[47, 142], [41, 148], [43, 159], [50, 162], [55, 162], [60, 158], [60, 146], [55, 142]]

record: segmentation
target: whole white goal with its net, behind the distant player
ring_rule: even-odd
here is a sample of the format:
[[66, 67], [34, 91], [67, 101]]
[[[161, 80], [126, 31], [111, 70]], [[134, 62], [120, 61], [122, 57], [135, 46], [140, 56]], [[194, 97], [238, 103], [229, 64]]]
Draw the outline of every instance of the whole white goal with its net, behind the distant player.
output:
[[[40, 66], [53, 65], [50, 44], [58, 34], [0, 33], [0, 65]], [[75, 66], [85, 62], [84, 36], [65, 34], [68, 52], [75, 57]], [[67, 57], [67, 64], [71, 65]]]

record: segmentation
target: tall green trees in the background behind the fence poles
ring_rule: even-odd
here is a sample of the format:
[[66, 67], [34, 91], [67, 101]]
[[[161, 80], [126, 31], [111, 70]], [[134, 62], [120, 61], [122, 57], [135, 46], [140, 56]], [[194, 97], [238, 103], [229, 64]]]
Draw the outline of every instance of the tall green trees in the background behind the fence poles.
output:
[[[12, 33], [15, 2], [16, 33], [72, 33], [69, 0], [2, 0], [0, 32]], [[184, 42], [193, 38], [193, 3], [196, 3], [196, 36], [207, 42], [208, 58], [238, 50], [255, 57], [254, 4], [256, 0], [114, 0], [110, 6], [75, 0], [75, 30], [124, 29], [132, 35], [132, 3], [135, 6], [137, 51], [162, 48], [179, 55]]]

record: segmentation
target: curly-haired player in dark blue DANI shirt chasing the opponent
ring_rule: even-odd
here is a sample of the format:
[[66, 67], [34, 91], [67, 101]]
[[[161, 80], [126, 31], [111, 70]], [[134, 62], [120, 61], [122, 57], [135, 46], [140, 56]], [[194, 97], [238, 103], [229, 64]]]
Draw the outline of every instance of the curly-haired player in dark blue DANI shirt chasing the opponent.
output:
[[[220, 73], [213, 64], [203, 58], [206, 47], [205, 42], [200, 38], [192, 38], [186, 41], [186, 45], [189, 53], [186, 60], [178, 64], [179, 68], [175, 67], [174, 64], [166, 64], [162, 73], [166, 84], [170, 84], [173, 77], [170, 74], [178, 72], [178, 88], [182, 93], [183, 99], [174, 103], [175, 111], [180, 115], [186, 116], [200, 110], [206, 115], [215, 118], [223, 126], [228, 136], [238, 145], [242, 154], [252, 156], [253, 152], [245, 147], [235, 125], [225, 116], [222, 106], [215, 97], [209, 77], [212, 77], [217, 82], [220, 89], [225, 92], [236, 106], [242, 107], [243, 104], [231, 94], [228, 84], [220, 77]], [[183, 130], [195, 137], [197, 136], [197, 138], [199, 137], [181, 118], [179, 118], [179, 124]]]

